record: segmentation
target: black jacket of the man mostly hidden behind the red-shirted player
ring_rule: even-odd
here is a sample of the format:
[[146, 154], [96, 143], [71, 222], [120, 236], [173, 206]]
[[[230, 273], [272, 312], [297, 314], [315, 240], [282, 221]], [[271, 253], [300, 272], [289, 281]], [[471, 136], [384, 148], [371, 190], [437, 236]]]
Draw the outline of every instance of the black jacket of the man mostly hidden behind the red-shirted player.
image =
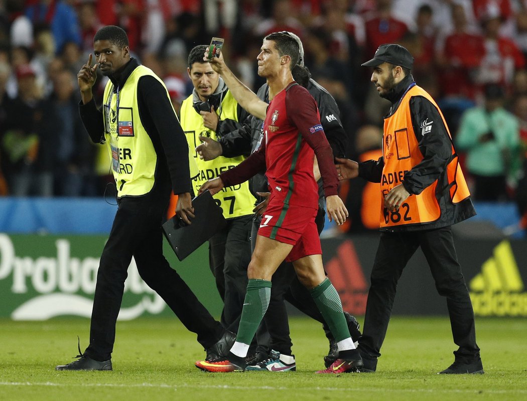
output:
[[[324, 128], [327, 140], [331, 145], [333, 154], [337, 157], [345, 157], [348, 145], [348, 135], [340, 122], [340, 111], [333, 96], [324, 87], [320, 86], [315, 80], [310, 79], [307, 90], [315, 98], [320, 113], [320, 123]], [[269, 103], [269, 87], [264, 84], [257, 93], [258, 97]], [[221, 138], [219, 143], [223, 150], [223, 156], [235, 157], [240, 154], [250, 154], [258, 149], [263, 138], [262, 126], [264, 122], [255, 116], [250, 115], [243, 126], [236, 131], [228, 132], [221, 126]], [[227, 125], [226, 125], [227, 126]], [[267, 179], [263, 173], [257, 174], [249, 180], [249, 189], [256, 197], [257, 202], [261, 201], [256, 192], [267, 192]], [[324, 191], [319, 182], [319, 206], [325, 208]]]

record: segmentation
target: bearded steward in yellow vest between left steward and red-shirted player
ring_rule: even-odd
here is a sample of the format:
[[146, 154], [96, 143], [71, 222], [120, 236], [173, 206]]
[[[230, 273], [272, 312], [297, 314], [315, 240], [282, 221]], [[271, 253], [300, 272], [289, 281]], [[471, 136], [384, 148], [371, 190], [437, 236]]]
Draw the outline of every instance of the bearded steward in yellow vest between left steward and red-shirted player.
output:
[[[249, 115], [243, 110], [219, 74], [203, 61], [207, 45], [194, 47], [189, 53], [188, 74], [194, 85], [192, 94], [181, 104], [181, 126], [192, 149], [202, 138], [219, 139], [222, 132], [236, 130]], [[193, 179], [194, 193], [201, 185], [245, 160], [247, 155], [219, 157], [205, 161], [192, 152], [191, 163], [199, 173]], [[214, 195], [214, 200], [227, 219], [225, 229], [209, 240], [210, 269], [223, 299], [221, 322], [232, 331], [238, 330], [239, 317], [247, 288], [247, 266], [251, 260], [250, 234], [255, 198], [247, 182], [227, 187]], [[213, 355], [209, 355], [213, 358]]]

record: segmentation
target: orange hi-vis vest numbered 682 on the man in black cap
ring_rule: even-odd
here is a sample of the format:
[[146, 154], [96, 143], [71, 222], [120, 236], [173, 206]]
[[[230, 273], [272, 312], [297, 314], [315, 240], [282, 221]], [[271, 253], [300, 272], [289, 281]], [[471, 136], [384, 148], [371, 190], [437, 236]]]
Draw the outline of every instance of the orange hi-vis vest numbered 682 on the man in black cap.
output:
[[[432, 97], [417, 85], [411, 87], [404, 95], [395, 113], [384, 120], [384, 168], [380, 180], [380, 190], [383, 199], [392, 188], [404, 181], [406, 172], [412, 170], [415, 165], [423, 160], [423, 154], [419, 150], [419, 143], [412, 126], [409, 106], [412, 96], [423, 96], [436, 107], [452, 143], [452, 135], [448, 131], [443, 113], [441, 113]], [[444, 174], [442, 174], [438, 180], [435, 180], [421, 193], [409, 196], [401, 204], [398, 211], [391, 212], [382, 204], [380, 228], [405, 224], [425, 224], [436, 221], [441, 216], [441, 207], [438, 199], [445, 194], [445, 191], [450, 192], [452, 203], [459, 203], [470, 196], [453, 143], [452, 157], [446, 166], [446, 179], [444, 179]]]

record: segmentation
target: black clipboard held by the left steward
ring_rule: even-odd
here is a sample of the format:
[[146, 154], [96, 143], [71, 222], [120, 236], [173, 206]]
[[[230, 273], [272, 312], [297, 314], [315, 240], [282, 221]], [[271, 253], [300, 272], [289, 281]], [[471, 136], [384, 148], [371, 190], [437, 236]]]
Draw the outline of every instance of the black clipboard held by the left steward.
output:
[[162, 226], [165, 237], [180, 261], [227, 224], [221, 208], [214, 202], [209, 191], [192, 199], [192, 206], [196, 215], [191, 219], [192, 224], [185, 224], [174, 216]]

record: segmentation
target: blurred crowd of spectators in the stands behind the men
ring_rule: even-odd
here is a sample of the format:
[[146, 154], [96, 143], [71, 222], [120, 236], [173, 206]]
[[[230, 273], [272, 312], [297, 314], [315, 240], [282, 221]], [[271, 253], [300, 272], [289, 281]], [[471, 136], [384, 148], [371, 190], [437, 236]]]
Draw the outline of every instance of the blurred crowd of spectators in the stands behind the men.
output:
[[[195, 45], [225, 38], [226, 60], [256, 90], [262, 37], [296, 33], [313, 78], [340, 107], [354, 160], [380, 154], [389, 107], [360, 64], [399, 43], [445, 115], [475, 200], [527, 210], [527, 0], [0, 0], [0, 194], [104, 193], [110, 161], [85, 134], [76, 87], [104, 25], [124, 28], [177, 110], [192, 92]], [[104, 84], [100, 76], [99, 103]], [[368, 228], [367, 192], [343, 186], [357, 229]]]

